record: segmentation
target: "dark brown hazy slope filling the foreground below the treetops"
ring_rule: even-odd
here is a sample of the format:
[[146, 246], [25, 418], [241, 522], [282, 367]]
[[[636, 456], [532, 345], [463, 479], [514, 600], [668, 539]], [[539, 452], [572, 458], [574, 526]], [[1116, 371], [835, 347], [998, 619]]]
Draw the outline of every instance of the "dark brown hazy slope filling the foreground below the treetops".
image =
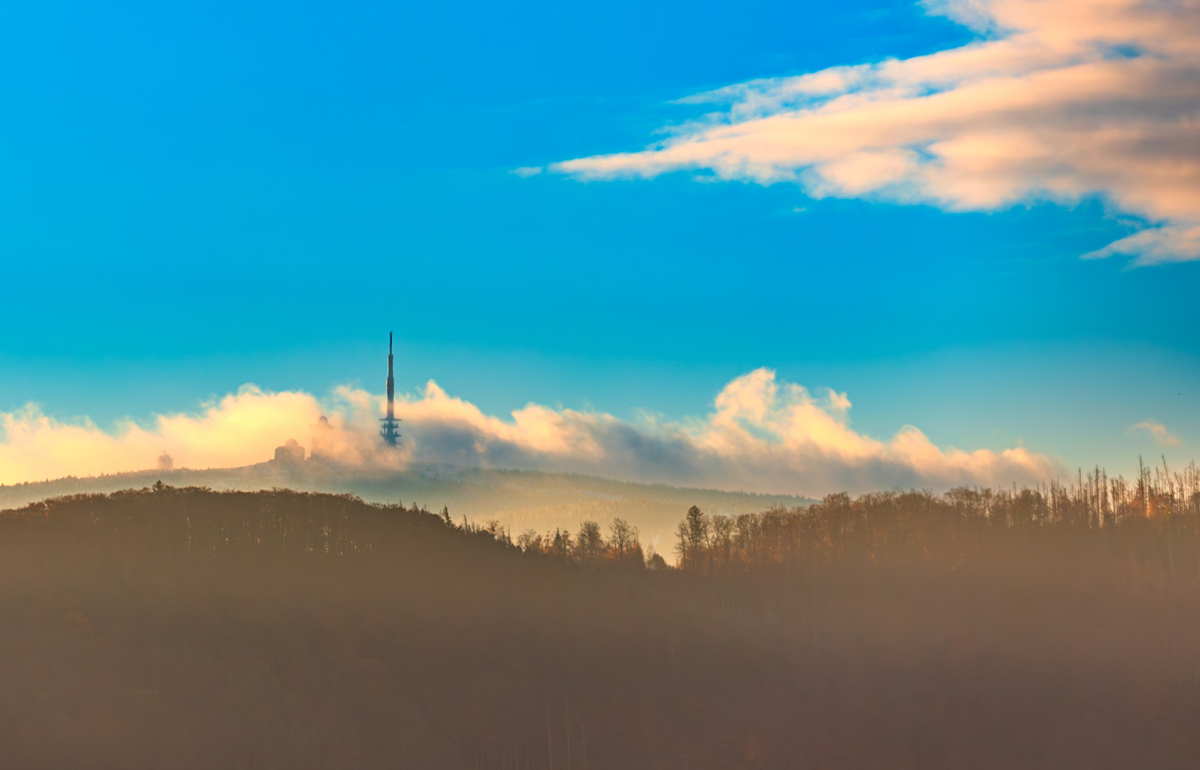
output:
[[901, 517], [893, 557], [839, 559], [834, 503], [788, 514], [811, 557], [688, 571], [331, 495], [8, 512], [4, 764], [1195, 766], [1194, 538]]

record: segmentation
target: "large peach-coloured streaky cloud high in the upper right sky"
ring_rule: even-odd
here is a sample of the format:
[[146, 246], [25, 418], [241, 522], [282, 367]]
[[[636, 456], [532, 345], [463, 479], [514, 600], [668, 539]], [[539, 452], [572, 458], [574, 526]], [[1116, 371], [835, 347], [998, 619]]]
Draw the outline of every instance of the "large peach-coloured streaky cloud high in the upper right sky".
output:
[[925, 56], [752, 80], [584, 179], [709, 169], [816, 197], [952, 211], [1098, 196], [1147, 226], [1088, 257], [1200, 258], [1200, 0], [926, 0], [980, 40]]

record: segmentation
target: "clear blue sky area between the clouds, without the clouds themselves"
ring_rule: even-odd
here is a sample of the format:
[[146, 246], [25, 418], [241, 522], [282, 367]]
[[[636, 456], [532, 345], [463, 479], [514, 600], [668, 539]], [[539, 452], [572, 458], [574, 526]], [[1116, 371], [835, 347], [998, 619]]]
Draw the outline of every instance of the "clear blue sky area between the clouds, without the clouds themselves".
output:
[[979, 35], [878, 1], [8, 4], [0, 412], [378, 393], [395, 330], [400, 389], [491, 414], [680, 419], [766, 366], [880, 438], [1189, 459], [1200, 263], [1080, 259], [1140, 226], [1100, 197], [512, 173], [640, 150], [694, 94]]

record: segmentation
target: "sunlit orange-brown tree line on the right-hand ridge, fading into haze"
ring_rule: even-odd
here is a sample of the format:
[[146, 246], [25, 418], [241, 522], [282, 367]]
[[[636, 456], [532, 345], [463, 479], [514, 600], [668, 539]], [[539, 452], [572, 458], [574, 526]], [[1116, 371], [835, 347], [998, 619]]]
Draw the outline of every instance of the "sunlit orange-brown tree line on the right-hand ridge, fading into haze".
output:
[[1033, 489], [960, 487], [827, 495], [811, 506], [710, 515], [692, 506], [676, 530], [677, 566], [694, 573], [857, 561], [961, 562], [1004, 544], [1103, 544], [1200, 577], [1200, 473], [1141, 466], [1138, 478], [1079, 473]]

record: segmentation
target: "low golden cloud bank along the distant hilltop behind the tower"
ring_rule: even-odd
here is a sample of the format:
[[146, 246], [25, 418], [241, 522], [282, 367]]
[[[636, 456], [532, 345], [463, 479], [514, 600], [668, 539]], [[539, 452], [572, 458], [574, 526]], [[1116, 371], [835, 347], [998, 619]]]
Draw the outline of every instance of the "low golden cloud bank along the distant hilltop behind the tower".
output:
[[[398, 452], [378, 438], [380, 407], [379, 396], [346, 387], [322, 402], [246, 386], [198, 414], [158, 416], [149, 426], [127, 422], [114, 432], [26, 407], [0, 413], [0, 483], [150, 468], [163, 452], [176, 467], [248, 465], [271, 459], [287, 438], [310, 452], [316, 438], [323, 456], [364, 470], [451, 462], [804, 495], [1032, 483], [1058, 471], [1024, 448], [937, 447], [912, 426], [886, 441], [864, 436], [848, 424], [845, 393], [814, 395], [769, 369], [733, 380], [708, 414], [680, 422], [649, 414], [628, 422], [538, 404], [502, 419], [430, 381], [424, 393], [397, 400], [404, 420]], [[318, 422], [322, 414], [328, 428]]]

